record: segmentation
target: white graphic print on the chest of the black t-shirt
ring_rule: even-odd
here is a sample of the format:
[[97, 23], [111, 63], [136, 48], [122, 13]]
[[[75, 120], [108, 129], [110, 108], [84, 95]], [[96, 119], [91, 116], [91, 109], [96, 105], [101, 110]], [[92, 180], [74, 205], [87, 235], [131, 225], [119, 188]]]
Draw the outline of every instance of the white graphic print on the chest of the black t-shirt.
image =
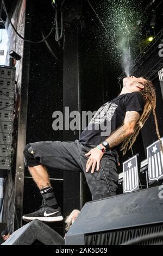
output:
[[115, 109], [118, 105], [115, 103], [105, 103], [101, 108], [98, 109], [94, 117], [91, 119], [89, 124], [101, 124], [104, 120], [110, 121], [115, 113]]

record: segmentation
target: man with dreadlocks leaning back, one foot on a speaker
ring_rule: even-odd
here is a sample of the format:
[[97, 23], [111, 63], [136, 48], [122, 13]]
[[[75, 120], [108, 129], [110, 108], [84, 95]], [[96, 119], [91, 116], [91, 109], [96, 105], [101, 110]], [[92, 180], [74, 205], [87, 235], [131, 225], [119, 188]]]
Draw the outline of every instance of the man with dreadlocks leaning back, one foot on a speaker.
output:
[[98, 109], [79, 140], [27, 144], [24, 162], [40, 189], [43, 204], [39, 210], [24, 215], [23, 220], [63, 220], [46, 167], [83, 171], [92, 200], [114, 196], [118, 179], [116, 165], [119, 164], [116, 147], [122, 143], [121, 150], [126, 154], [151, 110], [160, 139], [155, 106], [152, 82], [143, 77], [126, 77], [120, 95]]

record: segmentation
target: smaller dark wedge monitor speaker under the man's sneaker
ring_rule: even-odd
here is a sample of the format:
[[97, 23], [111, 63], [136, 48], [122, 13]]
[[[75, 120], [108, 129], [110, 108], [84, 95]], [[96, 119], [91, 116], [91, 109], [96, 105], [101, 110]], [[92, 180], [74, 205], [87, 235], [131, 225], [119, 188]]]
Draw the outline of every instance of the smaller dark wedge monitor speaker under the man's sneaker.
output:
[[2, 245], [64, 245], [64, 238], [45, 223], [34, 220], [16, 230]]

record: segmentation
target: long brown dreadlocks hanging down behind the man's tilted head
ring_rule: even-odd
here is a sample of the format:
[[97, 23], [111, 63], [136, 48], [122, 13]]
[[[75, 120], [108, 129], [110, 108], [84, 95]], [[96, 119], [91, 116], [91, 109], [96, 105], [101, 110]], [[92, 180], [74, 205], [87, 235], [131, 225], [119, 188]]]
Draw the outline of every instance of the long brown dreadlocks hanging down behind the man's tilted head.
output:
[[[156, 113], [155, 113], [155, 107], [156, 107], [156, 95], [155, 95], [155, 89], [153, 86], [153, 83], [145, 78], [146, 81], [139, 82], [145, 86], [140, 91], [140, 94], [143, 96], [143, 99], [145, 100], [145, 107], [143, 109], [142, 114], [140, 115], [140, 119], [137, 121], [135, 125], [135, 131], [132, 135], [128, 136], [122, 143], [122, 146], [120, 150], [123, 150], [123, 155], [126, 154], [126, 151], [131, 148], [131, 146], [134, 144], [137, 135], [139, 134], [139, 131], [141, 130], [142, 126], [145, 124], [146, 120], [149, 117], [149, 114], [151, 111], [153, 112], [154, 121], [155, 121], [155, 127], [156, 127], [156, 134], [158, 136], [158, 139], [160, 140], [160, 147], [162, 150], [162, 142], [161, 137], [158, 129], [158, 121], [156, 119]], [[130, 144], [130, 145], [129, 145]]]

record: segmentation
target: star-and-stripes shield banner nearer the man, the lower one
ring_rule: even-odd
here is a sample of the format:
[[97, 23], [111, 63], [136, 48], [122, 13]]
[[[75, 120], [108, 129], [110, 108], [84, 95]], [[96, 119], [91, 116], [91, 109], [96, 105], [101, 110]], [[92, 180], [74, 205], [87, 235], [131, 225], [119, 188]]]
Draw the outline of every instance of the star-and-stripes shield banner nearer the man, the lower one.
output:
[[137, 155], [123, 162], [123, 193], [139, 190]]

